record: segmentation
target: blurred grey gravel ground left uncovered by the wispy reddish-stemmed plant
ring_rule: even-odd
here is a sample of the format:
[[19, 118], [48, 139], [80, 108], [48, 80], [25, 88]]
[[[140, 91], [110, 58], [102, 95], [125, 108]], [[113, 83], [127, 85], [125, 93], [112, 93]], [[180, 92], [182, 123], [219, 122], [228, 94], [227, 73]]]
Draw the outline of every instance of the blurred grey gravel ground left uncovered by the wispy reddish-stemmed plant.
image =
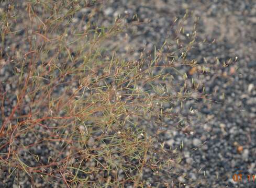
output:
[[[200, 121], [191, 119], [191, 132], [174, 130], [161, 139], [171, 147], [180, 147], [183, 143], [183, 168], [177, 169], [177, 173], [184, 177], [179, 177], [182, 187], [255, 187], [255, 183], [247, 180], [247, 175], [256, 173], [256, 2], [122, 0], [107, 1], [103, 7], [95, 18], [99, 25], [110, 25], [118, 15], [127, 15], [125, 21], [128, 23], [132, 22], [134, 14], [147, 22], [128, 28], [124, 32], [126, 35], [120, 34], [114, 42], [107, 44], [117, 50], [120, 57], [128, 60], [138, 58], [143, 48], [147, 53], [153, 52], [154, 45], [160, 48], [167, 33], [175, 37], [177, 28], [173, 25], [174, 17], [183, 17], [186, 9], [193, 11], [193, 16], [184, 22], [186, 33], [193, 32], [193, 20], [200, 17], [197, 36], [216, 42], [198, 45], [188, 54], [188, 58], [195, 58], [198, 64], [210, 64], [218, 57], [220, 63], [204, 80], [205, 91], [211, 93], [212, 100], [217, 102], [187, 101], [182, 113], [191, 113], [188, 109], [193, 107], [193, 115], [200, 117]], [[75, 15], [74, 25], [85, 21], [81, 15], [86, 11]], [[15, 41], [19, 42], [18, 39]], [[235, 57], [237, 61], [234, 61]], [[223, 67], [222, 62], [227, 62], [229, 58], [232, 63]], [[11, 73], [1, 71], [1, 81], [12, 79]], [[184, 67], [184, 72], [188, 71]], [[197, 76], [197, 73], [190, 75]], [[5, 85], [5, 90], [13, 87]], [[172, 128], [173, 122], [167, 123]], [[26, 140], [30, 141], [32, 139]], [[43, 155], [50, 155], [50, 151], [46, 149]], [[3, 186], [12, 187], [12, 181], [8, 183], [4, 178], [6, 174], [0, 173]], [[243, 175], [240, 183], [232, 180], [232, 176], [238, 173]]]

